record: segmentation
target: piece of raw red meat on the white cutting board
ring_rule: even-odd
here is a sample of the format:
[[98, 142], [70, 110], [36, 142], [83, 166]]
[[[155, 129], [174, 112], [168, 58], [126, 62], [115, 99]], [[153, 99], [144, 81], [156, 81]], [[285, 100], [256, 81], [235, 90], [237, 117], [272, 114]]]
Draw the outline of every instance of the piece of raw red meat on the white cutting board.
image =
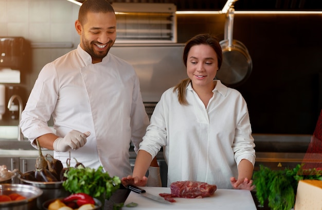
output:
[[159, 196], [170, 202], [175, 202], [174, 197], [178, 198], [204, 198], [214, 194], [217, 190], [216, 185], [196, 181], [177, 181], [170, 185], [171, 194], [162, 193]]

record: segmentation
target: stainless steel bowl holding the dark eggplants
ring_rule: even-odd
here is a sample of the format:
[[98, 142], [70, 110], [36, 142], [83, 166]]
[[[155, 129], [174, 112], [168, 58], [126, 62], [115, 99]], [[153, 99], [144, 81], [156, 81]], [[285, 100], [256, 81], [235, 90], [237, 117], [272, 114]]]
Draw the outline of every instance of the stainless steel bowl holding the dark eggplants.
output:
[[[34, 173], [34, 171], [28, 171], [26, 173], [32, 174]], [[39, 209], [42, 208], [42, 204], [47, 200], [55, 199], [55, 198], [63, 198], [70, 195], [70, 193], [64, 189], [63, 181], [59, 181], [59, 182], [30, 181], [30, 180], [23, 179], [21, 174], [18, 176], [18, 178], [23, 184], [32, 185], [43, 190], [42, 196], [40, 196], [37, 199], [37, 206]]]

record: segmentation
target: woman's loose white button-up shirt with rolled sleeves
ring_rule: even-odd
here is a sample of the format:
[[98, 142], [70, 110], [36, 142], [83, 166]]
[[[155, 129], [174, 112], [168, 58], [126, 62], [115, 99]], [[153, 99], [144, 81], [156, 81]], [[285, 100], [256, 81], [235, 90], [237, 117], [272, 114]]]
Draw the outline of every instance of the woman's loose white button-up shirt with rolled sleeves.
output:
[[178, 102], [177, 92], [167, 90], [157, 103], [140, 150], [153, 157], [161, 147], [168, 164], [168, 186], [175, 181], [200, 181], [232, 188], [238, 164], [255, 164], [246, 102], [241, 94], [219, 80], [207, 108], [192, 89], [186, 88], [188, 105]]

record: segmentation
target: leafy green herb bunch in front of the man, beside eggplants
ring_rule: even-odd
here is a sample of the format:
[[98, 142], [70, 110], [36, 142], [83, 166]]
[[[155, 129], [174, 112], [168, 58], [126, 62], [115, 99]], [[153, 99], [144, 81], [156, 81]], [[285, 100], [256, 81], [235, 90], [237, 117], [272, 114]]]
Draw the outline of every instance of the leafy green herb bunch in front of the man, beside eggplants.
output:
[[103, 171], [102, 166], [97, 170], [82, 165], [71, 167], [64, 173], [64, 177], [66, 180], [63, 187], [69, 193], [85, 193], [99, 200], [110, 199], [121, 183], [119, 177], [110, 177], [108, 172]]

